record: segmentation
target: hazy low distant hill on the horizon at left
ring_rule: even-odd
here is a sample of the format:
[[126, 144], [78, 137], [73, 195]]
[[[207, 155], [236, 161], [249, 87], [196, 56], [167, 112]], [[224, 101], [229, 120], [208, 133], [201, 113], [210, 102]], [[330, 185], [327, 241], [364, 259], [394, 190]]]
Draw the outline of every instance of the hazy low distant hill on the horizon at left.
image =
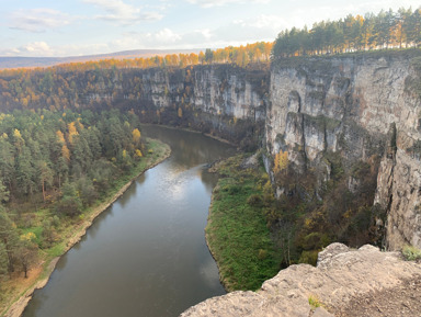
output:
[[189, 53], [200, 53], [200, 48], [192, 49], [135, 49], [135, 50], [124, 50], [110, 54], [99, 54], [99, 55], [86, 55], [86, 56], [70, 56], [70, 57], [1, 57], [0, 56], [0, 69], [10, 69], [10, 68], [35, 68], [35, 67], [49, 67], [59, 64], [66, 63], [81, 63], [90, 60], [101, 60], [101, 59], [130, 59], [130, 58], [140, 58], [140, 57], [151, 57], [157, 55], [168, 55], [168, 54], [189, 54]]

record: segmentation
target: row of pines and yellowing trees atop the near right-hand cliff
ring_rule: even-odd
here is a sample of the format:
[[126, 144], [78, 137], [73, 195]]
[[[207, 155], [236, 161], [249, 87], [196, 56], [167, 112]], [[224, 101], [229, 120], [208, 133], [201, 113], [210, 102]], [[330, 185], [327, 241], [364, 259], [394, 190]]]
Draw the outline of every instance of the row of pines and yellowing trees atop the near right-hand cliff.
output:
[[382, 10], [378, 14], [346, 15], [321, 21], [311, 29], [284, 30], [273, 45], [272, 60], [282, 57], [340, 54], [372, 49], [419, 47], [421, 8]]

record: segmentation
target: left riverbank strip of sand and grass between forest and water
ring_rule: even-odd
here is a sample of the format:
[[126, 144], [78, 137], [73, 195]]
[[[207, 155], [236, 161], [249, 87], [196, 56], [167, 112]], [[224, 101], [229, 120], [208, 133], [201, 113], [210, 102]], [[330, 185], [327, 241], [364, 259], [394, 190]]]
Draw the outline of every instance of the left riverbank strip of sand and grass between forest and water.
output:
[[[67, 235], [62, 241], [55, 246], [57, 247], [56, 249], [58, 249], [58, 251], [55, 250], [55, 252], [44, 253], [44, 257], [41, 259], [38, 265], [34, 267], [30, 271], [30, 279], [23, 280], [23, 278], [18, 278], [16, 280], [8, 282], [7, 286], [11, 291], [7, 293], [7, 298], [3, 298], [4, 308], [1, 312], [2, 315], [0, 316], [21, 316], [29, 301], [32, 298], [33, 292], [45, 286], [54, 271], [58, 259], [69, 249], [71, 249], [72, 246], [80, 241], [94, 219], [107, 207], [110, 207], [129, 188], [129, 185], [137, 179], [138, 176], [144, 173], [146, 170], [157, 166], [170, 156], [171, 149], [168, 145], [155, 139], [148, 139], [147, 141], [148, 148], [151, 149], [151, 151], [145, 155], [144, 159], [139, 161], [138, 166], [133, 169], [130, 174], [125, 176], [125, 178], [122, 180], [124, 185], [117, 189], [116, 192], [112, 193], [109, 199], [86, 211], [79, 223], [77, 223], [71, 228], [67, 228]], [[52, 249], [55, 249], [55, 247]], [[58, 254], [54, 254], [56, 252], [58, 252]]]

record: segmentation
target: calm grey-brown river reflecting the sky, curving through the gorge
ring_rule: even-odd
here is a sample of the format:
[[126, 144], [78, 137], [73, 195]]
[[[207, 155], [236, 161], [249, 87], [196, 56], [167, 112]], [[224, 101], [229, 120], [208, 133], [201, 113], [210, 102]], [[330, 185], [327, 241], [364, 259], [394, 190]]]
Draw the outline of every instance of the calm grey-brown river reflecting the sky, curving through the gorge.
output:
[[172, 156], [101, 214], [35, 292], [24, 317], [178, 316], [225, 293], [204, 238], [214, 174], [234, 149], [200, 134], [147, 126]]

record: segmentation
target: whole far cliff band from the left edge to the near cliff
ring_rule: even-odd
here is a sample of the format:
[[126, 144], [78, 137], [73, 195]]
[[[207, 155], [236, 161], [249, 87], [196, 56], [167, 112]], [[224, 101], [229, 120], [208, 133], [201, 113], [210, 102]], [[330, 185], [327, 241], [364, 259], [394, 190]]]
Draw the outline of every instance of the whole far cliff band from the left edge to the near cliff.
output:
[[[25, 75], [26, 76], [26, 75]], [[263, 131], [268, 66], [197, 65], [149, 69], [46, 69], [0, 73], [0, 109], [130, 110], [140, 120], [191, 127], [234, 143]]]

